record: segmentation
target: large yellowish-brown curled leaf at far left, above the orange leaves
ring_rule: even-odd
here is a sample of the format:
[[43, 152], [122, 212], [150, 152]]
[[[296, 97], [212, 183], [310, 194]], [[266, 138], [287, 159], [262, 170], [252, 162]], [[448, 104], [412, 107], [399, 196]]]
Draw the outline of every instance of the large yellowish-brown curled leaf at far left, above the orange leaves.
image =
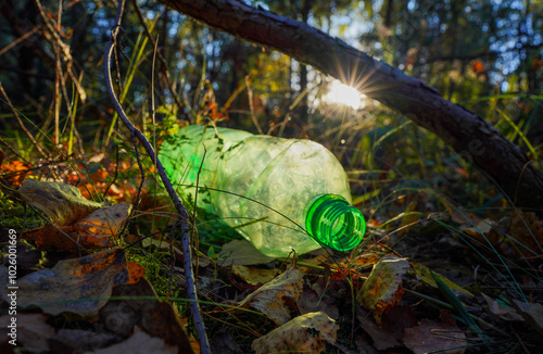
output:
[[71, 225], [102, 207], [102, 204], [85, 199], [76, 187], [61, 182], [27, 178], [18, 192], [28, 204], [46, 213], [58, 226]]

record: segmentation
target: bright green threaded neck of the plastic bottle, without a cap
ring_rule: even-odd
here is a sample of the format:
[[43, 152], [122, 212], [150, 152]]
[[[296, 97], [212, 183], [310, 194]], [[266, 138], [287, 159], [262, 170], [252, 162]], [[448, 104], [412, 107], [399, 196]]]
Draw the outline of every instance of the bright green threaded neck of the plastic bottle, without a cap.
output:
[[366, 222], [361, 211], [338, 194], [315, 197], [305, 213], [305, 228], [321, 245], [349, 251], [364, 238]]

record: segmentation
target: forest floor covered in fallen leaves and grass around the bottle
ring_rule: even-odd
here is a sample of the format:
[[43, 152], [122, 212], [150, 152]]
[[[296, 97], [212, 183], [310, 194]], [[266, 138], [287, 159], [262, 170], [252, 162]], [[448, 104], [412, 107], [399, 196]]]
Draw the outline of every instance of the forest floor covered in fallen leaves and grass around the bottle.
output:
[[[175, 214], [152, 177], [112, 179], [131, 164], [104, 155], [79, 166], [84, 178], [65, 162], [5, 156], [0, 352], [199, 353]], [[536, 353], [543, 220], [440, 201], [406, 193], [389, 205], [404, 210], [394, 219], [363, 207], [353, 251], [283, 260], [197, 218], [212, 352]]]

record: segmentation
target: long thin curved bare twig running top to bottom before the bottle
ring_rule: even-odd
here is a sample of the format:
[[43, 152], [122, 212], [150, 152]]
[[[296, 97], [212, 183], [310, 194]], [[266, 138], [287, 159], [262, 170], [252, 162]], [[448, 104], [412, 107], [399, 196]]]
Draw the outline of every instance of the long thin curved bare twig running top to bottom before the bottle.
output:
[[185, 275], [187, 277], [187, 293], [188, 296], [191, 301], [190, 303], [190, 308], [192, 312], [192, 317], [194, 320], [194, 327], [198, 332], [198, 337], [200, 340], [200, 350], [201, 353], [203, 354], [210, 354], [210, 343], [207, 341], [207, 334], [205, 332], [205, 327], [203, 324], [202, 315], [200, 313], [200, 304], [198, 303], [198, 295], [197, 295], [197, 289], [195, 289], [195, 282], [194, 282], [194, 274], [192, 271], [192, 262], [191, 262], [191, 245], [190, 245], [190, 236], [189, 236], [189, 215], [187, 213], [187, 210], [182, 205], [181, 201], [179, 200], [179, 197], [177, 195], [174, 187], [172, 186], [172, 181], [168, 179], [166, 172], [164, 167], [162, 166], [161, 161], [157, 159], [156, 153], [154, 152], [153, 147], [149, 143], [147, 138], [143, 136], [143, 134], [137, 129], [134, 124], [128, 119], [126, 116], [126, 113], [124, 112], [123, 108], [121, 106], [121, 103], [118, 102], [118, 99], [115, 94], [115, 91], [113, 89], [113, 83], [111, 79], [111, 56], [113, 52], [113, 48], [115, 47], [116, 42], [116, 35], [119, 33], [119, 25], [121, 25], [121, 18], [123, 15], [125, 7], [125, 1], [119, 0], [118, 1], [118, 8], [117, 8], [117, 15], [115, 18], [115, 27], [113, 27], [112, 30], [112, 38], [110, 39], [110, 42], [105, 47], [105, 54], [104, 54], [104, 74], [105, 74], [105, 85], [108, 89], [108, 94], [110, 96], [110, 99], [113, 103], [113, 106], [115, 108], [115, 111], [118, 114], [118, 117], [121, 121], [123, 121], [123, 124], [130, 130], [130, 134], [138, 138], [138, 140], [141, 142], [143, 148], [146, 149], [148, 155], [151, 157], [151, 161], [153, 164], [156, 166], [156, 170], [159, 175], [161, 176], [162, 182], [164, 184], [164, 188], [166, 189], [169, 198], [174, 202], [174, 206], [179, 215], [179, 223], [180, 225], [180, 230], [181, 230], [181, 240], [182, 240], [182, 252], [184, 252], [184, 266], [185, 266]]

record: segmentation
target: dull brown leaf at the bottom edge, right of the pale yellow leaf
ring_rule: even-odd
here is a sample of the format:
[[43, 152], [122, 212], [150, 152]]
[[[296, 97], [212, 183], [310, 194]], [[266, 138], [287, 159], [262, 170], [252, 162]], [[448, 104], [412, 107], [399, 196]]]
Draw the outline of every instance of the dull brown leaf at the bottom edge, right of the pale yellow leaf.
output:
[[468, 345], [466, 334], [456, 327], [450, 312], [442, 311], [440, 318], [441, 323], [422, 319], [417, 327], [406, 328], [405, 346], [415, 354], [464, 354]]

